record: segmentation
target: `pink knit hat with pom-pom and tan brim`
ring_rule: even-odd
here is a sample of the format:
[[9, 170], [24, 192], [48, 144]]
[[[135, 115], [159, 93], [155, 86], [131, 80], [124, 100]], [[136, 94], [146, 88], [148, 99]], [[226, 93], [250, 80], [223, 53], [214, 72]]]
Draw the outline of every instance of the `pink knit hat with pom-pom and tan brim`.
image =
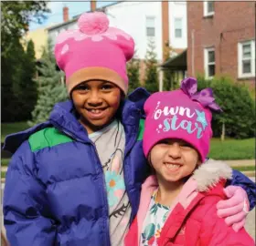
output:
[[133, 38], [109, 27], [107, 15], [101, 12], [80, 15], [78, 26], [79, 29], [60, 33], [55, 46], [68, 91], [83, 81], [99, 79], [114, 83], [126, 94], [126, 62], [133, 57]]

